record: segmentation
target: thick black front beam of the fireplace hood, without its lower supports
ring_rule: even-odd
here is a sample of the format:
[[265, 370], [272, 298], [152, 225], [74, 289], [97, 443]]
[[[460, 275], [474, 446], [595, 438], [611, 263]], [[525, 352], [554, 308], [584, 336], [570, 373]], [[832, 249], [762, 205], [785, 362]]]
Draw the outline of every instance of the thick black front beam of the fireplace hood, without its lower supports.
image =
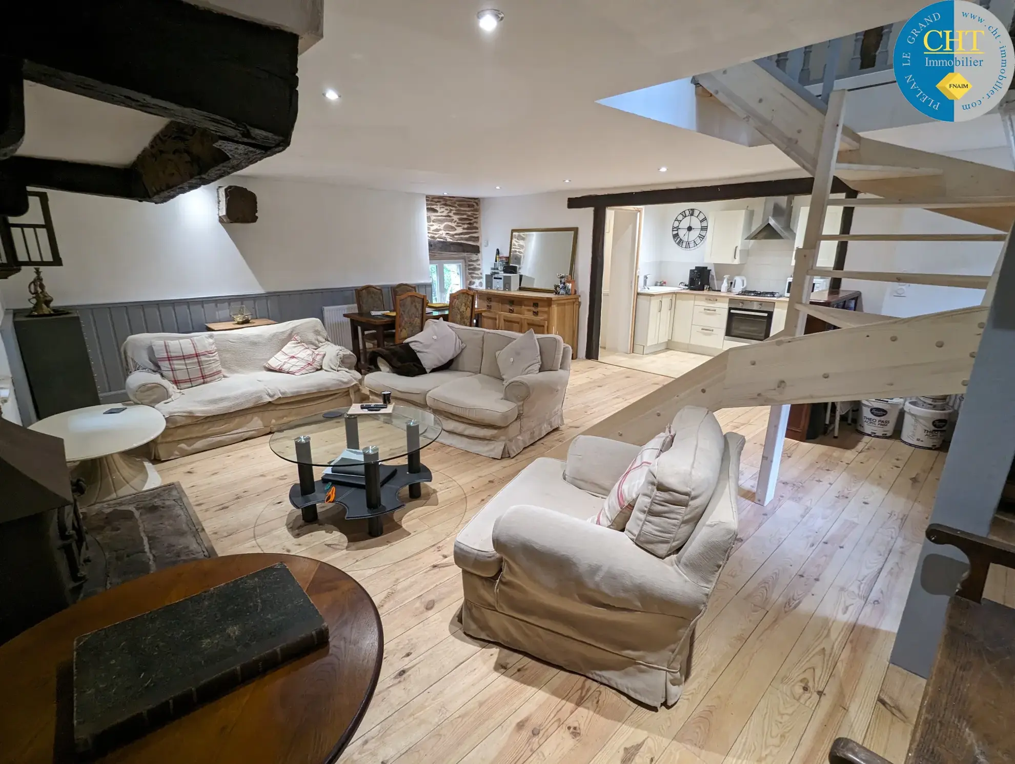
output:
[[4, 10], [25, 79], [275, 146], [296, 121], [299, 39], [182, 0], [50, 0]]

